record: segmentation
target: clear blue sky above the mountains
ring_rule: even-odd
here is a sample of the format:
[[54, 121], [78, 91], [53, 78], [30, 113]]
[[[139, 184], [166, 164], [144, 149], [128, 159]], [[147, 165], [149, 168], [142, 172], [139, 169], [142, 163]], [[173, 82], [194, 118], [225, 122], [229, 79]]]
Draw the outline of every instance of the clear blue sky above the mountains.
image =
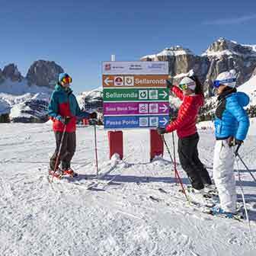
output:
[[256, 44], [256, 1], [0, 0], [0, 68], [22, 75], [55, 61], [78, 93], [101, 85], [101, 62], [136, 61], [166, 47], [196, 54], [219, 37]]

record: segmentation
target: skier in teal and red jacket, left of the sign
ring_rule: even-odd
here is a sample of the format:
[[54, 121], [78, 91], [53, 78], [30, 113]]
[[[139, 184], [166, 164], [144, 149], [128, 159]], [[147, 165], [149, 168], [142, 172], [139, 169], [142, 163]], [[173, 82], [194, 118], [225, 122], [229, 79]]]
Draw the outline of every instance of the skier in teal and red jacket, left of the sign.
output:
[[[49, 174], [56, 178], [61, 177], [62, 174], [69, 174], [74, 176], [75, 173], [70, 166], [73, 155], [75, 154], [75, 124], [76, 117], [80, 118], [97, 118], [96, 113], [88, 114], [80, 110], [75, 95], [72, 94], [69, 88], [72, 78], [67, 73], [59, 74], [59, 82], [53, 91], [50, 98], [48, 114], [53, 120], [53, 131], [56, 138], [56, 150], [50, 158], [50, 171]], [[66, 128], [66, 133], [62, 134]], [[57, 161], [59, 146], [62, 146]], [[59, 163], [62, 162], [62, 168], [59, 168]]]

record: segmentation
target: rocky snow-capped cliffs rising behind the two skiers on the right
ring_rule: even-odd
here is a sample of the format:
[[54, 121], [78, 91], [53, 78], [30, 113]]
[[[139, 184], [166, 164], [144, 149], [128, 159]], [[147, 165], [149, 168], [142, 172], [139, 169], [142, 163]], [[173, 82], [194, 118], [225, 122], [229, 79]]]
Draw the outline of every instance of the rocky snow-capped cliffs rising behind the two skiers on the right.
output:
[[238, 85], [247, 82], [256, 73], [256, 47], [220, 37], [200, 56], [181, 46], [174, 46], [160, 53], [143, 56], [143, 61], [168, 61], [169, 74], [174, 82], [181, 81], [190, 69], [204, 82], [207, 96], [212, 96], [213, 80], [219, 73], [235, 69]]

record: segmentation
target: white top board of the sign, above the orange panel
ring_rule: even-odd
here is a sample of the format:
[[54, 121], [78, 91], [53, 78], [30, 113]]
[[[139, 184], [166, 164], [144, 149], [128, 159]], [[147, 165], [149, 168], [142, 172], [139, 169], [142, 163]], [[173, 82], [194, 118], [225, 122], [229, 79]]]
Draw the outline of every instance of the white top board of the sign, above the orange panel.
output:
[[168, 62], [102, 62], [103, 75], [168, 75]]

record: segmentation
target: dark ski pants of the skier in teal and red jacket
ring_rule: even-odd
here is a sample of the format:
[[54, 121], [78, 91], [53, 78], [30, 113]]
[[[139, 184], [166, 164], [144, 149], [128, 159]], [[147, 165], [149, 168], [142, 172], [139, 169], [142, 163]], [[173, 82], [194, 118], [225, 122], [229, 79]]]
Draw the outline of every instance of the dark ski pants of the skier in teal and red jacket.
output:
[[[53, 153], [53, 156], [50, 158], [50, 169], [54, 170], [58, 153], [59, 153], [59, 146], [62, 139], [62, 132], [55, 132], [55, 139], [56, 139], [56, 149]], [[62, 147], [60, 150], [59, 155], [59, 161], [57, 163], [57, 166], [59, 166], [59, 163], [62, 162], [62, 169], [67, 170], [70, 168], [70, 162], [72, 160], [73, 155], [75, 154], [75, 132], [73, 133], [65, 133]]]

